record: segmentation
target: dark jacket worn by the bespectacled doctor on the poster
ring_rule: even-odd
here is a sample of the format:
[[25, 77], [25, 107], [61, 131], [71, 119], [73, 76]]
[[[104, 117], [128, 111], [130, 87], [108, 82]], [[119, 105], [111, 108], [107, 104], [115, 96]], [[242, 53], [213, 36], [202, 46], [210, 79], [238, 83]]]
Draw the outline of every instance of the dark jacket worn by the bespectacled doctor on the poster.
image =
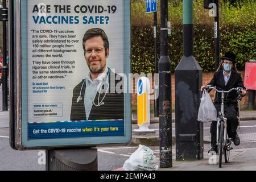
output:
[[[114, 93], [110, 93], [111, 90], [115, 90], [115, 86], [117, 86], [118, 82], [120, 80], [115, 80], [113, 82], [110, 81], [110, 78], [113, 76], [117, 76], [112, 71], [110, 71], [109, 76], [109, 92], [106, 93], [106, 96], [103, 100], [104, 105], [102, 106], [95, 106], [93, 104], [92, 110], [90, 110], [90, 115], [88, 120], [94, 120], [94, 119], [123, 119], [124, 118], [124, 98], [123, 93], [117, 93], [116, 91]], [[86, 120], [86, 114], [85, 114], [85, 105], [84, 105], [84, 99], [85, 98], [85, 88], [86, 84], [82, 86], [82, 83], [84, 80], [82, 80], [78, 85], [75, 86], [73, 89], [73, 98], [72, 98], [72, 107], [71, 107], [71, 115], [70, 119], [71, 121], [81, 121]], [[77, 102], [77, 98], [80, 95], [80, 90], [82, 88], [81, 97], [82, 100]], [[98, 104], [98, 92], [96, 94], [96, 97], [94, 98], [94, 103]], [[105, 93], [100, 94], [100, 101], [104, 97]]]

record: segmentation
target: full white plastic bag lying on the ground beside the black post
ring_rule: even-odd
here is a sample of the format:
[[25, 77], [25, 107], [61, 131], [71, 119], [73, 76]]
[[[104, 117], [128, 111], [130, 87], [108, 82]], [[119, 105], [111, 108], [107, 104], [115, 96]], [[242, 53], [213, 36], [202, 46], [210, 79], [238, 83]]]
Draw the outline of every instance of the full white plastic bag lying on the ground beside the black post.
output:
[[154, 151], [149, 147], [139, 144], [139, 148], [125, 161], [123, 168], [126, 171], [155, 171], [158, 170], [158, 161], [154, 155]]

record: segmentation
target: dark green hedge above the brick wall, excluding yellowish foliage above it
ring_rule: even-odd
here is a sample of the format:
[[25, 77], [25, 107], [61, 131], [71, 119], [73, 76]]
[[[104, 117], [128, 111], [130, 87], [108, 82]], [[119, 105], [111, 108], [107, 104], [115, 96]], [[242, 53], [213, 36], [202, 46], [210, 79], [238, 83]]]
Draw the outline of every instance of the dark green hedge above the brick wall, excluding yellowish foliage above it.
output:
[[[220, 56], [225, 51], [237, 55], [237, 68], [243, 70], [245, 62], [256, 58], [256, 26], [224, 25], [220, 28]], [[160, 58], [160, 32], [158, 30], [158, 56]], [[150, 38], [151, 37], [151, 38]], [[168, 50], [172, 63], [172, 72], [183, 56], [183, 26], [172, 24], [168, 38]], [[154, 39], [152, 27], [132, 26], [131, 28], [131, 68], [133, 73], [154, 73]], [[193, 35], [194, 57], [203, 72], [214, 71], [213, 27], [207, 24], [195, 24]]]

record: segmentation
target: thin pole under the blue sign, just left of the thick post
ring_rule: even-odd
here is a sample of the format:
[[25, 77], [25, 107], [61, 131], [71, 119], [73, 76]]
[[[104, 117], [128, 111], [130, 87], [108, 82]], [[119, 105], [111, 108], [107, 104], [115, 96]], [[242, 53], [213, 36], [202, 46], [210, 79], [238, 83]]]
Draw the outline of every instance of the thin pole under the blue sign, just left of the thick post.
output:
[[[156, 30], [158, 30], [158, 22], [157, 22], [157, 13], [156, 12], [154, 12], [154, 46], [155, 46], [155, 74], [156, 73], [158, 73], [158, 50], [157, 50], [157, 31]], [[158, 77], [156, 77], [155, 76], [155, 90], [156, 89], [158, 89], [158, 88], [156, 88], [156, 79], [157, 79]], [[158, 85], [157, 85], [158, 86]], [[158, 91], [157, 91], [158, 92]], [[156, 92], [155, 92], [155, 94], [156, 94]], [[158, 94], [158, 93], [157, 93]], [[155, 97], [156, 98], [156, 97]], [[155, 100], [154, 100], [154, 111], [155, 111], [155, 117], [159, 117], [159, 106], [158, 106], [158, 102], [159, 100], [158, 100], [158, 98], [156, 98]]]

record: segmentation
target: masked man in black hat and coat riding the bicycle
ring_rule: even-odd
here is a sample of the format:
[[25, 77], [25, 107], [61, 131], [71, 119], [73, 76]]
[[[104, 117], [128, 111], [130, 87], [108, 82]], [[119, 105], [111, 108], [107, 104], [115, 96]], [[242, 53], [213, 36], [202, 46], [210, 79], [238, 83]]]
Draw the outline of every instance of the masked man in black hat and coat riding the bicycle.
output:
[[[217, 71], [214, 73], [212, 80], [207, 85], [216, 86], [218, 89], [230, 90], [232, 88], [243, 86], [243, 81], [241, 74], [237, 72], [236, 68], [236, 55], [232, 52], [225, 52], [225, 56], [221, 57], [221, 64]], [[205, 86], [201, 86], [201, 91], [205, 89]], [[245, 96], [246, 91], [241, 90], [241, 96]], [[217, 113], [221, 109], [221, 93], [217, 93], [214, 98], [214, 106], [216, 107]], [[237, 92], [233, 90], [228, 94], [225, 94], [225, 117], [227, 118], [227, 133], [229, 138], [231, 138], [236, 146], [240, 144], [240, 138], [237, 134], [238, 127], [238, 106], [237, 106]], [[211, 134], [211, 146], [209, 152], [216, 152], [218, 148], [216, 146], [216, 131], [217, 131], [217, 121], [214, 121], [210, 125]]]

